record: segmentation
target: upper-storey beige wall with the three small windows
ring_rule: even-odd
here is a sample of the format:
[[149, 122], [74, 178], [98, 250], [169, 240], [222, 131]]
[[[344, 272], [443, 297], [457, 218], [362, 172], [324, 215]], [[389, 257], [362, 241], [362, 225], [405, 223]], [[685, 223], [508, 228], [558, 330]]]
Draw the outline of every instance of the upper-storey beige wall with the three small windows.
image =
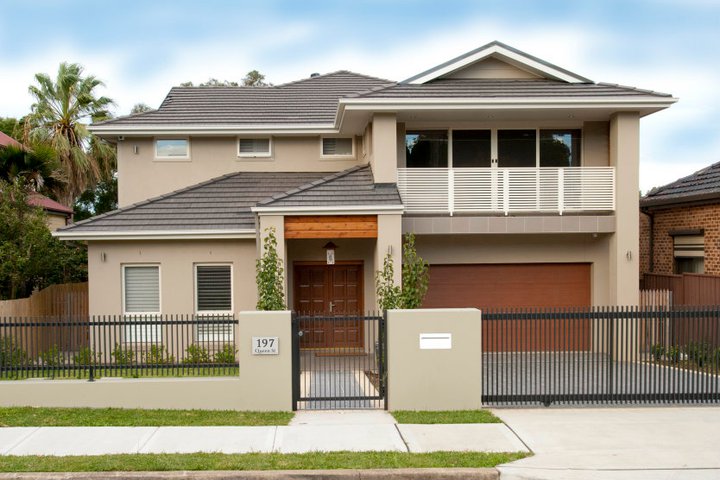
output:
[[[153, 138], [131, 137], [118, 142], [118, 204], [120, 207], [238, 171], [336, 172], [366, 160], [355, 156], [321, 157], [319, 136], [273, 137], [272, 156], [237, 155], [237, 137], [191, 137], [189, 160], [155, 160]], [[137, 147], [138, 153], [134, 153]]]

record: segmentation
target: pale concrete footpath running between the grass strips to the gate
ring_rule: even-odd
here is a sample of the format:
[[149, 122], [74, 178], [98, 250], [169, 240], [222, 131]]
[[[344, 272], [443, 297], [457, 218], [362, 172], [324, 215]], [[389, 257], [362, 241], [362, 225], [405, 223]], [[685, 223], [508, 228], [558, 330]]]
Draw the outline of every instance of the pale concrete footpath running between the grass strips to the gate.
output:
[[0, 455], [527, 451], [503, 424], [398, 425], [384, 411], [298, 412], [281, 427], [10, 427]]

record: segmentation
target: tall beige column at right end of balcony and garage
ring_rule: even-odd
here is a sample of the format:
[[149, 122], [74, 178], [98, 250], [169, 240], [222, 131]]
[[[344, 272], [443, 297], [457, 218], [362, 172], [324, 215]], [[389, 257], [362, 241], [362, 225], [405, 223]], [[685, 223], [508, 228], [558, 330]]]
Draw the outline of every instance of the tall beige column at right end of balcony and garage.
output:
[[617, 232], [610, 241], [610, 302], [637, 305], [640, 297], [640, 115], [610, 120], [610, 164], [615, 167]]

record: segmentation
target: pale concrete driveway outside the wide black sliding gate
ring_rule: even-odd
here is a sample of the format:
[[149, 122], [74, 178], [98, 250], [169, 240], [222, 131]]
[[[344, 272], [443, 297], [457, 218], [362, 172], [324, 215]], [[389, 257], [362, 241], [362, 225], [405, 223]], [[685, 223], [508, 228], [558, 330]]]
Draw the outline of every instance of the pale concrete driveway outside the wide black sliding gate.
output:
[[493, 412], [535, 453], [501, 466], [503, 480], [720, 478], [720, 407]]

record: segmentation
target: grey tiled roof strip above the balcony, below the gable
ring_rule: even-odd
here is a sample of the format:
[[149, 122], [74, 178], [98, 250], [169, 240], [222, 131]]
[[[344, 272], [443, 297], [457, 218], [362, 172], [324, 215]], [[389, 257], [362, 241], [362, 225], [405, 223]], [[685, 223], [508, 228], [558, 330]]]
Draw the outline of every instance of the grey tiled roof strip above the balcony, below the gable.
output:
[[443, 79], [424, 84], [397, 83], [354, 95], [356, 98], [558, 98], [672, 97], [669, 94], [606, 83], [556, 80]]

